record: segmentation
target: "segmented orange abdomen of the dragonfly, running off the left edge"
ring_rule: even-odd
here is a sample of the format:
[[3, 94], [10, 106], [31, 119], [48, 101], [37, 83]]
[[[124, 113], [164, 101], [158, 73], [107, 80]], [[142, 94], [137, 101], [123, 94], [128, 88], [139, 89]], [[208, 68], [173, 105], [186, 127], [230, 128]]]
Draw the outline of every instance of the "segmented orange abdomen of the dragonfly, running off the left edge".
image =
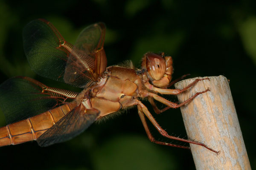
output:
[[75, 107], [74, 103], [62, 105], [37, 116], [0, 127], [0, 146], [20, 144], [38, 139], [45, 131]]

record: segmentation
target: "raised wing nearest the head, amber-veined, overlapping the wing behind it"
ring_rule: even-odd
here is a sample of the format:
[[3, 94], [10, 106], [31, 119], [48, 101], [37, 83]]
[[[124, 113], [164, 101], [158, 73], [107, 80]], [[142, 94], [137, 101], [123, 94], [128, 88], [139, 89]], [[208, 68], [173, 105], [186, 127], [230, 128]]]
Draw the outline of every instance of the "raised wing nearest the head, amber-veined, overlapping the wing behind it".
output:
[[104, 23], [96, 23], [81, 31], [67, 61], [65, 82], [84, 88], [90, 82], [96, 81], [105, 71], [105, 29]]

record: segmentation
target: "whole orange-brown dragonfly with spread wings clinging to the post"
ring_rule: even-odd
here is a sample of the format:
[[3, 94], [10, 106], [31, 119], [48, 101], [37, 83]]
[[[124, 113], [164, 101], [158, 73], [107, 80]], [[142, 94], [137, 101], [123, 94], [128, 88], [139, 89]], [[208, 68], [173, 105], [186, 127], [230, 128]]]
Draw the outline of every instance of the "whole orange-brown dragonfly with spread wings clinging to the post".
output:
[[[148, 120], [166, 138], [198, 144], [218, 153], [206, 144], [169, 135], [142, 102], [147, 99], [157, 114], [169, 108], [179, 108], [209, 89], [180, 104], [160, 95], [180, 94], [204, 79], [196, 79], [183, 89], [170, 89], [186, 75], [171, 82], [173, 61], [165, 53], [147, 52], [143, 55], [141, 68], [135, 68], [131, 61], [107, 67], [103, 48], [105, 30], [104, 23], [90, 25], [81, 31], [72, 45], [47, 20], [33, 20], [25, 26], [23, 46], [32, 70], [42, 77], [83, 90], [76, 93], [53, 88], [21, 76], [3, 82], [0, 85], [0, 108], [8, 125], [0, 127], [0, 146], [32, 140], [41, 147], [65, 142], [93, 122], [136, 106], [151, 142], [189, 149], [156, 140], [149, 130]], [[166, 108], [160, 110], [155, 101], [163, 103]]]

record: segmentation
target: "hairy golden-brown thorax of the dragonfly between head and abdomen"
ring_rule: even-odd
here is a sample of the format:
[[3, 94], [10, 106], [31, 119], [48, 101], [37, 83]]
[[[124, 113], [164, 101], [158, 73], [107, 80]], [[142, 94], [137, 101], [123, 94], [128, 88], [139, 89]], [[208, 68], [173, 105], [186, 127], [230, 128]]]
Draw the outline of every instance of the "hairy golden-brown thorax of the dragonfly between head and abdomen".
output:
[[[101, 118], [135, 105], [141, 89], [141, 79], [134, 69], [110, 66], [96, 85], [79, 94], [76, 102], [81, 102], [86, 109], [96, 108], [100, 111], [98, 118]], [[91, 99], [84, 98], [87, 91], [90, 91]]]

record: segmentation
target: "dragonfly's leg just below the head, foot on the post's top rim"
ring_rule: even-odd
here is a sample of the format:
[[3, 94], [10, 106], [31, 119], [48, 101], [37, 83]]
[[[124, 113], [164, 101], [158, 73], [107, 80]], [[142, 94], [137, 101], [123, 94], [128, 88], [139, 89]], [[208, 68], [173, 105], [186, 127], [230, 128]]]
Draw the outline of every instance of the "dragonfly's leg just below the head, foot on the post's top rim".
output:
[[190, 83], [188, 86], [186, 86], [183, 89], [168, 89], [168, 88], [156, 88], [154, 87], [154, 85], [151, 85], [149, 82], [145, 82], [144, 85], [146, 88], [148, 88], [149, 90], [152, 90], [154, 92], [160, 93], [160, 94], [180, 94], [183, 91], [186, 91], [188, 88], [190, 88], [192, 85], [195, 85], [196, 82], [199, 82], [201, 80], [205, 80], [209, 78], [204, 78], [204, 79], [195, 79], [194, 82]]

